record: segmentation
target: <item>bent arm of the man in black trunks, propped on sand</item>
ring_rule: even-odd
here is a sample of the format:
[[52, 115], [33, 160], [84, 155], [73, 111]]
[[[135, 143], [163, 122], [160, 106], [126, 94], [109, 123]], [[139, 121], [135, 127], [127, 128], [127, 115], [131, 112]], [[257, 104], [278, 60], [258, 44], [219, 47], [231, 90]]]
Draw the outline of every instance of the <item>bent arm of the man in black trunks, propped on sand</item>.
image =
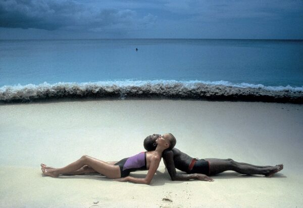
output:
[[213, 179], [204, 174], [177, 174], [172, 150], [166, 150], [163, 154], [163, 159], [172, 181], [187, 181], [190, 179], [213, 181]]

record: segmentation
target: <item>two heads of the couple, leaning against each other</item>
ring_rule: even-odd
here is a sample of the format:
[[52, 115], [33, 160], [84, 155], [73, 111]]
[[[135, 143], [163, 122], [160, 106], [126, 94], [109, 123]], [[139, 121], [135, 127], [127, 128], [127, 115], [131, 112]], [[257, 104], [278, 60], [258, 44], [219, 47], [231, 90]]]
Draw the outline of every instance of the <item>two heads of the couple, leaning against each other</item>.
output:
[[172, 149], [176, 145], [176, 142], [176, 138], [171, 133], [164, 135], [153, 134], [144, 139], [143, 145], [147, 151], [154, 151], [158, 145], [162, 145], [166, 149]]

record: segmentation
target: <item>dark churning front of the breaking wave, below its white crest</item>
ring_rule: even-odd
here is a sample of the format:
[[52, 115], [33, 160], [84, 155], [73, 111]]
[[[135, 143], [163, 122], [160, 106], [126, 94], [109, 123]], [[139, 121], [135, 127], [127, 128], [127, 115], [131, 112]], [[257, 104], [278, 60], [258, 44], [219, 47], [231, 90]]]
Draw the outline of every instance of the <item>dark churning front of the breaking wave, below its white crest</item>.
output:
[[267, 91], [255, 88], [235, 88], [197, 84], [194, 88], [184, 85], [144, 86], [53, 86], [46, 89], [24, 88], [13, 92], [0, 92], [1, 103], [24, 103], [64, 98], [173, 98], [219, 101], [261, 101], [303, 104], [303, 92]]

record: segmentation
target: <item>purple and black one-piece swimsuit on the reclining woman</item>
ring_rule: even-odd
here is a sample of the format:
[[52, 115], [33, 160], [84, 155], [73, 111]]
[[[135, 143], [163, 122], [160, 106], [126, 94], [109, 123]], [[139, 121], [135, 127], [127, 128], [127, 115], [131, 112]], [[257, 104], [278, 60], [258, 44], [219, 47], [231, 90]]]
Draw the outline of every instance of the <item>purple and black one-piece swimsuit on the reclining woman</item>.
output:
[[146, 170], [146, 152], [140, 152], [131, 157], [121, 159], [115, 165], [119, 165], [121, 178], [126, 177], [130, 172]]

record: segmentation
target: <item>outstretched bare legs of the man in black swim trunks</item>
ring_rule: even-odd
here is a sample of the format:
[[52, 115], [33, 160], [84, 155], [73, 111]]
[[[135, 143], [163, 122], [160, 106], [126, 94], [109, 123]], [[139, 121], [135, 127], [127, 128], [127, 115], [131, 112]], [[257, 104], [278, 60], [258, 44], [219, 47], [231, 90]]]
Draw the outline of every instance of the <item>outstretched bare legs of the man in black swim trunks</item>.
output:
[[[206, 158], [206, 161], [210, 163], [210, 173], [211, 175], [216, 175], [224, 171], [235, 171], [240, 174], [245, 175], [255, 175], [261, 174], [271, 177], [275, 173], [283, 169], [283, 164], [278, 164], [276, 166], [258, 166], [251, 165], [244, 162], [236, 162], [233, 159], [217, 159], [217, 158]], [[261, 167], [261, 168], [259, 168]]]

